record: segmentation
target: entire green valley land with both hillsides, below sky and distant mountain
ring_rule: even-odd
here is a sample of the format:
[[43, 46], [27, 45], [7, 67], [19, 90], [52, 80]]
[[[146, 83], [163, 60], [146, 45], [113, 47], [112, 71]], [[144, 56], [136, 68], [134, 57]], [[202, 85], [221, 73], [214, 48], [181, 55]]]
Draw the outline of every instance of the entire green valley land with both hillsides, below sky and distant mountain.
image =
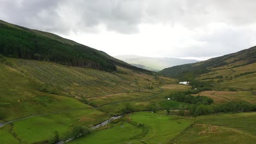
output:
[[55, 34], [0, 33], [0, 143], [255, 141], [255, 47], [159, 74]]

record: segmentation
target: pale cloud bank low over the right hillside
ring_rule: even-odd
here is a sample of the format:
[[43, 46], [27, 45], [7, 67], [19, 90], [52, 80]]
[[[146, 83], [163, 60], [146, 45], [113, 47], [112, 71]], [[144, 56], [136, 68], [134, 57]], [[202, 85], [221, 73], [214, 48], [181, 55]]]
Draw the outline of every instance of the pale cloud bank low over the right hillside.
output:
[[[214, 33], [201, 35], [197, 38], [202, 44], [191, 45], [189, 47], [179, 47], [175, 53], [166, 53], [166, 56], [173, 57], [217, 57], [242, 49], [254, 46], [252, 35], [255, 32], [249, 29], [218, 29]], [[205, 42], [205, 43], [203, 43]]]

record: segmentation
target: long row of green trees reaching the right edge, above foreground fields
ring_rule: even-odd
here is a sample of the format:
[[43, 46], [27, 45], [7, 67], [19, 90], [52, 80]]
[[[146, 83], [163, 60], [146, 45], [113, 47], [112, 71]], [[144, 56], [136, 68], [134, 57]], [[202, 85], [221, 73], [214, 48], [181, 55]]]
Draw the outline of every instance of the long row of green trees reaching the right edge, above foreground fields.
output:
[[200, 116], [219, 112], [236, 113], [256, 111], [256, 105], [247, 101], [230, 101], [222, 105], [191, 105], [188, 110], [190, 115]]

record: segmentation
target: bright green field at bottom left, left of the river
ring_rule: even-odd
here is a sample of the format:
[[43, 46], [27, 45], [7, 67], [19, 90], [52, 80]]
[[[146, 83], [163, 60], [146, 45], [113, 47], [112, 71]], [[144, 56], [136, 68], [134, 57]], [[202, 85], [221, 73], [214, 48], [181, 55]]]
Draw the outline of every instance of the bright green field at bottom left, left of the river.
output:
[[[60, 138], [63, 138], [75, 123], [92, 127], [107, 118], [106, 113], [93, 109], [36, 116], [4, 125], [3, 130], [1, 128], [0, 135], [11, 136], [10, 134], [15, 134], [22, 143], [33, 143], [50, 139], [53, 137], [54, 131], [58, 131]], [[2, 138], [4, 137], [0, 138], [1, 141]]]

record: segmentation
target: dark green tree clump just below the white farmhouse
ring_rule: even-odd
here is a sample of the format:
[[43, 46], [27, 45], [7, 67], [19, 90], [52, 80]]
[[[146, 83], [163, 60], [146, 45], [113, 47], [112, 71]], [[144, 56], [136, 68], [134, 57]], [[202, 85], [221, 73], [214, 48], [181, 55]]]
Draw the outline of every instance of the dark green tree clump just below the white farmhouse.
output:
[[190, 94], [191, 91], [185, 91], [185, 92], [174, 92], [169, 95], [168, 98], [171, 98], [176, 101], [182, 101], [184, 103], [190, 103], [190, 104], [197, 104], [197, 105], [210, 105], [213, 103], [213, 99], [208, 98], [206, 96], [193, 96]]

